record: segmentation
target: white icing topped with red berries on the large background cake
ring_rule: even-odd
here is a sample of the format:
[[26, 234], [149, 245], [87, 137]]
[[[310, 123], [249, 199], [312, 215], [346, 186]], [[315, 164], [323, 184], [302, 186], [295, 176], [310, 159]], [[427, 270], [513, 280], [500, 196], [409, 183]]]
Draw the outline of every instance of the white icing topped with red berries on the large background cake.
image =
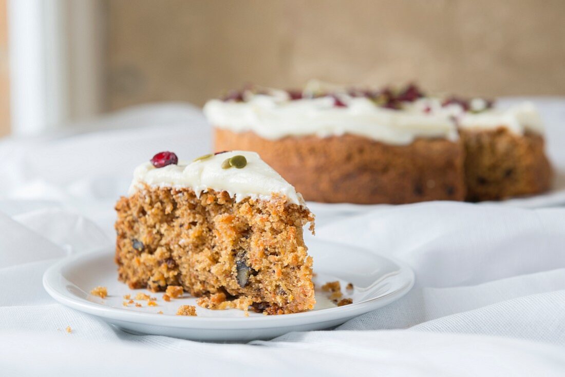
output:
[[[335, 90], [335, 89], [334, 89]], [[516, 134], [541, 133], [542, 122], [531, 103], [498, 109], [483, 99], [468, 103], [441, 97], [416, 96], [398, 108], [358, 97], [347, 91], [315, 97], [305, 91], [299, 98], [281, 90], [243, 92], [238, 100], [213, 99], [204, 106], [216, 128], [253, 131], [266, 139], [288, 136], [354, 134], [389, 144], [409, 144], [416, 138], [458, 139], [458, 128], [493, 129]]]

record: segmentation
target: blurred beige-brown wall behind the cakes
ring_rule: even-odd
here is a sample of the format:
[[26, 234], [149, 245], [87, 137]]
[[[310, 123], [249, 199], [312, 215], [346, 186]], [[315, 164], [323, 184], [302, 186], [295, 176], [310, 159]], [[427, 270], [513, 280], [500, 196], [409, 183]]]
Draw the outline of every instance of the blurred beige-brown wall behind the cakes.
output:
[[[432, 91], [487, 97], [565, 95], [562, 0], [96, 5], [99, 112], [161, 101], [202, 105], [246, 82], [292, 87], [310, 78], [376, 86], [417, 81]], [[0, 11], [0, 28], [1, 17]], [[2, 43], [0, 31], [0, 51]], [[0, 94], [7, 85], [2, 59]]]

